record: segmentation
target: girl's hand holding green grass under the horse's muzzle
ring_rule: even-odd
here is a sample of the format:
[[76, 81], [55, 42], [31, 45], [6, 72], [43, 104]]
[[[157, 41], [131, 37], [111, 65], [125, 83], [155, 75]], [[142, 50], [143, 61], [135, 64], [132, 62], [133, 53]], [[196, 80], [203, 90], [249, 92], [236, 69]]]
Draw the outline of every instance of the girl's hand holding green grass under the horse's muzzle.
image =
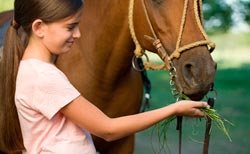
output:
[[200, 108], [209, 108], [206, 102], [196, 102], [190, 100], [183, 100], [174, 103], [175, 114], [177, 116], [188, 116], [188, 117], [204, 117], [204, 113]]

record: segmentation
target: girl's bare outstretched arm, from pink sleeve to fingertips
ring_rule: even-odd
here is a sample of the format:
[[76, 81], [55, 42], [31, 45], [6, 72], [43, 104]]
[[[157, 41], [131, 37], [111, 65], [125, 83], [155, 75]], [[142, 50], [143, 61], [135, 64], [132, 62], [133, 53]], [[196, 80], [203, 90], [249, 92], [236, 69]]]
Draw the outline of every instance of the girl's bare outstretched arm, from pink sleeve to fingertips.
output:
[[197, 108], [208, 107], [205, 102], [181, 101], [156, 110], [109, 118], [84, 97], [79, 96], [60, 112], [78, 126], [107, 141], [113, 141], [144, 130], [173, 115], [204, 116]]

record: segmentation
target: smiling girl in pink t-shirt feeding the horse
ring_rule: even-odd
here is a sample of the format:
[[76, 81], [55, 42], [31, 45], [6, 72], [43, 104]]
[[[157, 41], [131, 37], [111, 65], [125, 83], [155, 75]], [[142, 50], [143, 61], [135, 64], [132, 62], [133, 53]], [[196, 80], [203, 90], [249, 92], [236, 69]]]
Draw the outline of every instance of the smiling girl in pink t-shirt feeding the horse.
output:
[[[136, 115], [109, 118], [53, 64], [80, 37], [82, 0], [15, 0], [1, 68], [1, 142], [27, 154], [94, 154], [89, 132], [113, 141], [173, 115], [202, 117], [205, 102], [180, 101]], [[20, 40], [22, 29], [26, 39]]]

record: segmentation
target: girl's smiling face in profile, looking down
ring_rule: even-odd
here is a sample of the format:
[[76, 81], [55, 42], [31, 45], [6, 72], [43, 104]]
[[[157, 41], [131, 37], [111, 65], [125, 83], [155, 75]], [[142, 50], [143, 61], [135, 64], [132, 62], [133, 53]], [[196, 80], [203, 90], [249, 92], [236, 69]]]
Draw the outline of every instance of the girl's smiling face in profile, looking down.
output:
[[61, 54], [70, 50], [75, 40], [81, 36], [79, 21], [81, 11], [68, 18], [46, 24], [43, 44], [51, 54]]

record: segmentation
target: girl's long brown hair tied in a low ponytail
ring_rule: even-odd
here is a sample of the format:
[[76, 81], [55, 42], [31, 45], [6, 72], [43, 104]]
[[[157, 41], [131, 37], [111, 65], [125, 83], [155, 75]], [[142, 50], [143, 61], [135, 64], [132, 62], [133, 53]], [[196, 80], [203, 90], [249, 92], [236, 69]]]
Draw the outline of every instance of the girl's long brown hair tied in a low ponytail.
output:
[[20, 29], [28, 41], [34, 20], [55, 22], [74, 15], [82, 5], [82, 0], [15, 0], [14, 17], [6, 32], [0, 70], [1, 150], [15, 153], [24, 149], [15, 106], [16, 76], [26, 46], [26, 41], [20, 39]]

